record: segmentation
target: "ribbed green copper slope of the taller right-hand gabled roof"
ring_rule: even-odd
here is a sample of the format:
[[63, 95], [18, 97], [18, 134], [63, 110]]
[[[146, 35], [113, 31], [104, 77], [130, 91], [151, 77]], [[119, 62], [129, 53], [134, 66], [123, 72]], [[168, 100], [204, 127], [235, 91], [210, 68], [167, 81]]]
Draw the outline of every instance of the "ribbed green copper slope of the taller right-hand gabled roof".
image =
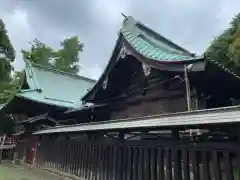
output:
[[189, 62], [203, 59], [193, 57], [190, 52], [137, 22], [131, 16], [125, 18], [121, 33], [132, 48], [148, 59], [160, 62]]

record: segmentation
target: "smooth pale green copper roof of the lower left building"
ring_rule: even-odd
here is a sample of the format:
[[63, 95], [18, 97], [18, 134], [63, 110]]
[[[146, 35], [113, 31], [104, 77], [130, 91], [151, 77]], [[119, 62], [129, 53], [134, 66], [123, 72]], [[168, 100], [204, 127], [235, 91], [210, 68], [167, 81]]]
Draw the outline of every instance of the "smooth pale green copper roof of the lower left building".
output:
[[74, 108], [92, 88], [95, 81], [55, 69], [26, 62], [29, 89], [22, 89], [17, 97], [49, 105]]

